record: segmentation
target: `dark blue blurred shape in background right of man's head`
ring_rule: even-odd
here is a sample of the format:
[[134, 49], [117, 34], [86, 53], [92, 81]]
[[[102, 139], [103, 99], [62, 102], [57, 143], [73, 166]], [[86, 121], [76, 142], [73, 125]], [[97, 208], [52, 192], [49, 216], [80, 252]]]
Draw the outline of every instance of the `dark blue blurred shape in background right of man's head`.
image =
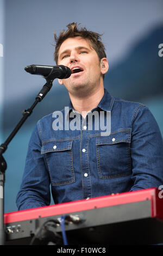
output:
[[104, 84], [110, 94], [130, 101], [142, 101], [163, 93], [163, 26], [136, 42], [125, 59], [108, 71]]

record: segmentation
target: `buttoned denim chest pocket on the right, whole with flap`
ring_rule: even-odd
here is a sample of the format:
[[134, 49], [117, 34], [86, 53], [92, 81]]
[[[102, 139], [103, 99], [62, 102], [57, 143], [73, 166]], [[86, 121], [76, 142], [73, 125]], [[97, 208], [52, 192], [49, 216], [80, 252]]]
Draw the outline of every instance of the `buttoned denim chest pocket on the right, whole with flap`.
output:
[[100, 179], [112, 179], [131, 173], [131, 132], [116, 132], [97, 137], [97, 169]]

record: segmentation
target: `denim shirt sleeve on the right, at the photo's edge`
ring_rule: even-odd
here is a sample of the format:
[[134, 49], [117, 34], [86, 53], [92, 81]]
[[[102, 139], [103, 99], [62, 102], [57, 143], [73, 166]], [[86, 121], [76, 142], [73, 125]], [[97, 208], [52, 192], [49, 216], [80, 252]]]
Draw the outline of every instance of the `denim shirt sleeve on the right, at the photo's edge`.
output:
[[158, 124], [148, 107], [141, 105], [133, 117], [131, 137], [133, 186], [130, 191], [163, 184], [163, 142]]

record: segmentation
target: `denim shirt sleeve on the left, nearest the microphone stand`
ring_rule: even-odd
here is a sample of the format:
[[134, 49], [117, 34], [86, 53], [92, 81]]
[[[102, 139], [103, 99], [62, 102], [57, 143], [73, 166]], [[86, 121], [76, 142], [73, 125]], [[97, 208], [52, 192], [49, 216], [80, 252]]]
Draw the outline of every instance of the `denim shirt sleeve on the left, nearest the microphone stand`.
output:
[[37, 208], [50, 204], [51, 192], [48, 168], [41, 155], [39, 123], [30, 137], [26, 164], [16, 204], [18, 210]]

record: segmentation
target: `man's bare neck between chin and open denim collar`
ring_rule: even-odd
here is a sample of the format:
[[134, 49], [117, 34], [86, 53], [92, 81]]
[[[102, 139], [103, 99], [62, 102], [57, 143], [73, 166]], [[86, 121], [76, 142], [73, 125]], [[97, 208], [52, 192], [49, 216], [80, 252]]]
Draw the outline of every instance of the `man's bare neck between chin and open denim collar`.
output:
[[93, 108], [97, 107], [98, 103], [101, 101], [102, 97], [104, 96], [104, 88], [99, 88], [99, 90], [96, 90], [96, 92], [82, 98], [71, 94], [69, 95], [73, 108], [85, 118], [87, 113]]

